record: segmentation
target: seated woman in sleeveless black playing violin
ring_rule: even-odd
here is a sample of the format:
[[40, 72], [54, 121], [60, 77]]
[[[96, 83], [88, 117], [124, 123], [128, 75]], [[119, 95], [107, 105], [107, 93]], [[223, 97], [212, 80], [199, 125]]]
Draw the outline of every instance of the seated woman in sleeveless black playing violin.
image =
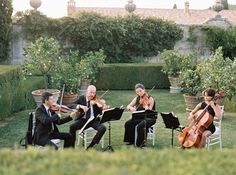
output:
[[[127, 106], [128, 110], [132, 112], [140, 111], [140, 110], [155, 110], [155, 101], [154, 99], [147, 94], [145, 91], [144, 85], [138, 83], [134, 87], [136, 97], [131, 101], [131, 103]], [[156, 119], [146, 118], [144, 120], [128, 120], [125, 123], [125, 134], [124, 134], [124, 142], [128, 142], [127, 145], [134, 144], [134, 136], [135, 136], [135, 126], [137, 126], [137, 142], [136, 146], [142, 147], [145, 146], [144, 143], [144, 127], [146, 122], [146, 131], [152, 125], [156, 123]], [[147, 132], [145, 133], [147, 135]]]

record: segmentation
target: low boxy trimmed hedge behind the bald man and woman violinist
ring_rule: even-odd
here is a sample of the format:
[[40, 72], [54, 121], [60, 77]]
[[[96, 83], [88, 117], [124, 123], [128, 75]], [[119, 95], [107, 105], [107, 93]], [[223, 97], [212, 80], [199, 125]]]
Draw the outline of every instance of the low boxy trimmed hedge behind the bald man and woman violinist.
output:
[[96, 77], [98, 89], [130, 90], [136, 83], [143, 83], [146, 88], [169, 88], [167, 75], [162, 66], [154, 63], [142, 64], [106, 64], [99, 69]]

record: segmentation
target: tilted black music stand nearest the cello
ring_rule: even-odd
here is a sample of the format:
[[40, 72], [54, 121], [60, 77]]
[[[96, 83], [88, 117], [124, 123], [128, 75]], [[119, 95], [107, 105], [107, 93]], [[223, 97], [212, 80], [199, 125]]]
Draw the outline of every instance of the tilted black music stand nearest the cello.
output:
[[178, 117], [176, 117], [173, 112], [169, 112], [169, 113], [161, 112], [161, 116], [162, 116], [162, 119], [165, 123], [166, 128], [169, 128], [169, 129], [172, 130], [171, 145], [172, 145], [172, 148], [173, 148], [174, 130], [179, 129], [178, 131], [181, 131], [182, 126], [179, 123]]

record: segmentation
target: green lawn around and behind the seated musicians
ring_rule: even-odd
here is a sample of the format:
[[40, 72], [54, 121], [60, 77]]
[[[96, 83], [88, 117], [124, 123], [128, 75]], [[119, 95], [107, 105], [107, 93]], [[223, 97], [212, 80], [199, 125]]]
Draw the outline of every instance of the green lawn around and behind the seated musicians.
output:
[[[98, 92], [101, 95], [104, 91]], [[170, 94], [168, 90], [153, 90], [151, 95], [156, 101], [156, 107], [158, 112], [171, 112], [173, 111], [179, 118], [181, 125], [187, 124], [187, 114], [185, 111], [185, 104], [182, 94]], [[109, 91], [104, 99], [111, 107], [120, 107], [121, 105], [127, 106], [128, 103], [135, 97], [134, 91]], [[32, 110], [25, 110], [19, 113], [15, 113], [10, 117], [9, 121], [0, 122], [0, 147], [1, 148], [13, 148], [17, 145], [19, 140], [24, 136], [28, 125], [28, 113]], [[111, 122], [111, 144], [115, 150], [123, 149], [127, 147], [123, 143], [124, 136], [124, 123], [131, 116], [131, 112], [125, 110], [121, 120]], [[235, 148], [236, 145], [236, 114], [225, 112], [225, 117], [222, 121], [222, 137], [223, 148]], [[60, 131], [68, 132], [69, 126], [72, 122], [59, 126]], [[105, 124], [108, 127], [108, 124]], [[178, 132], [174, 132], [174, 148], [178, 148], [177, 141]], [[108, 144], [108, 130], [105, 133], [105, 146]], [[163, 120], [158, 115], [156, 125], [156, 142], [153, 149], [160, 150], [170, 148], [171, 146], [171, 130], [166, 129]], [[148, 148], [152, 148], [150, 141], [148, 142]], [[216, 147], [218, 148], [218, 147]], [[76, 149], [80, 149], [77, 147]], [[97, 150], [101, 150], [100, 145], [95, 147]]]

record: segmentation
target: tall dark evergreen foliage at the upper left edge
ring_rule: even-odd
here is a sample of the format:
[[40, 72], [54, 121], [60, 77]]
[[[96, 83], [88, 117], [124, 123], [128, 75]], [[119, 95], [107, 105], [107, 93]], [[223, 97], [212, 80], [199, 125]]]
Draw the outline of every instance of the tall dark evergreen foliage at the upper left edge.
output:
[[8, 59], [12, 11], [11, 0], [0, 0], [0, 62]]

